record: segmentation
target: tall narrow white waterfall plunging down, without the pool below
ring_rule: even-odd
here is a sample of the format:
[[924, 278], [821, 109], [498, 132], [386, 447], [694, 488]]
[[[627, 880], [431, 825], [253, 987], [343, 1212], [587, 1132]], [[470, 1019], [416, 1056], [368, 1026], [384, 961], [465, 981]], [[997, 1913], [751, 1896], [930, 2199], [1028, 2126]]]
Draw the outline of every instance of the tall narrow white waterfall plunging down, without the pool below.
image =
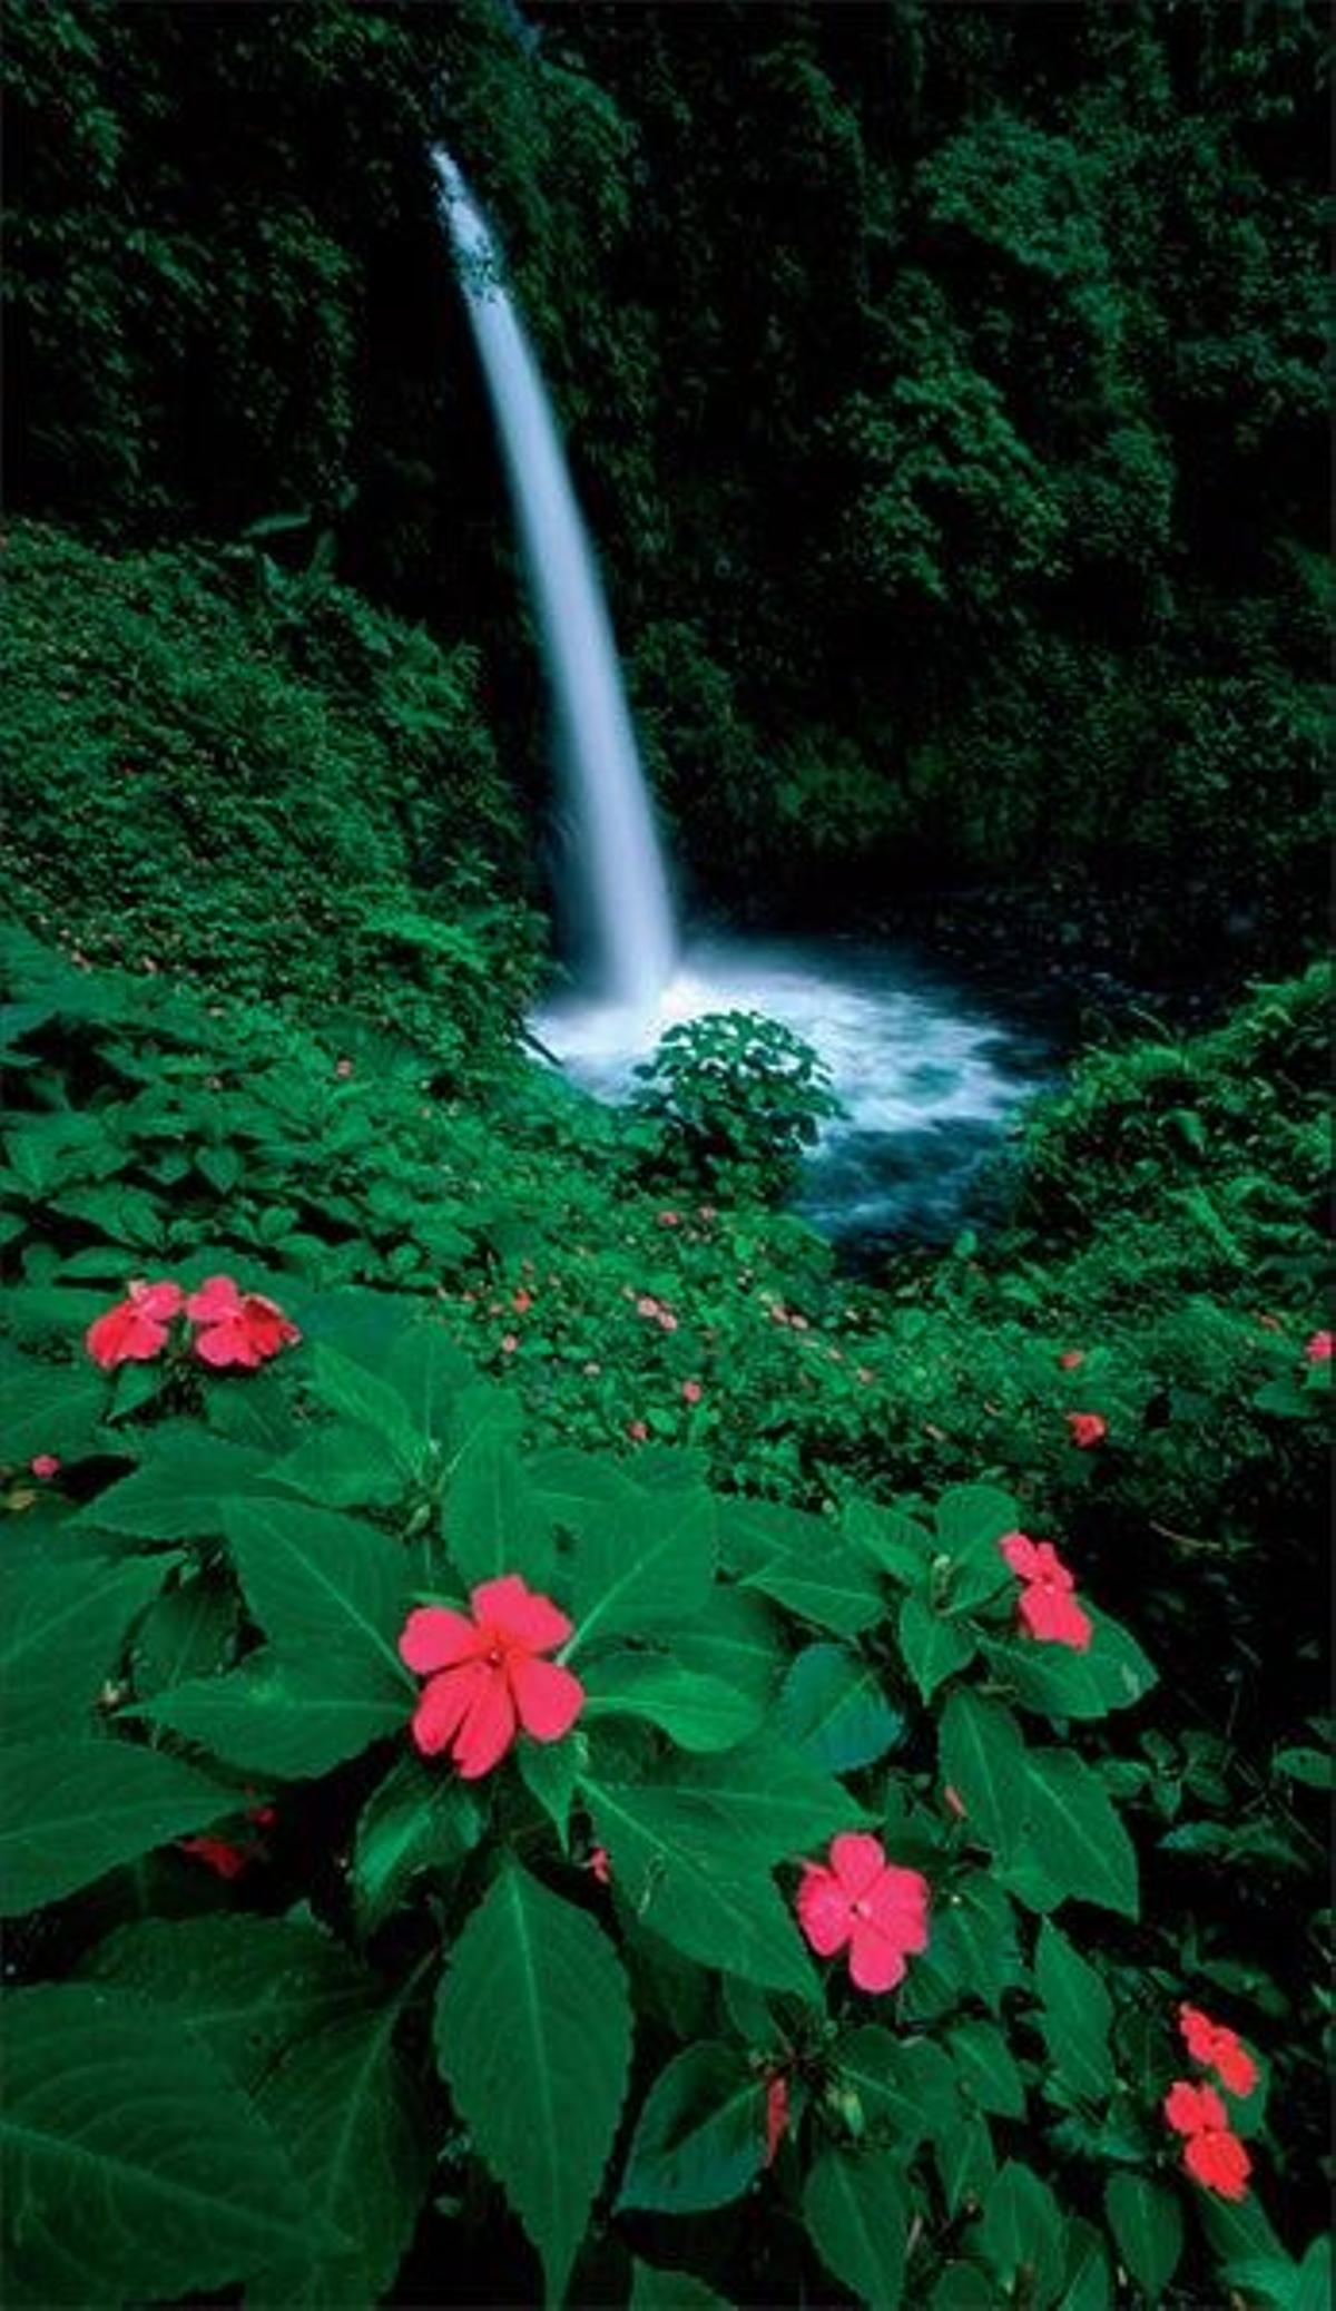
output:
[[599, 569], [539, 363], [502, 282], [492, 231], [439, 146], [432, 166], [502, 437], [557, 705], [576, 917], [599, 980], [589, 994], [647, 1010], [673, 975], [677, 934]]

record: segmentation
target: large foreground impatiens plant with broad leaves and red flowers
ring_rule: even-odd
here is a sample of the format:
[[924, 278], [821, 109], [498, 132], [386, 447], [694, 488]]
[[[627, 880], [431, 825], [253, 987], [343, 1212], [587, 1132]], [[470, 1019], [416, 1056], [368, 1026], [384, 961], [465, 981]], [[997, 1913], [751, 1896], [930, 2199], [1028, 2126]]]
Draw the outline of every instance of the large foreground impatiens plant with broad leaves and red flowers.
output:
[[129, 1414], [92, 1359], [14, 1532], [14, 2299], [83, 2299], [79, 2186], [109, 2299], [395, 2299], [418, 2237], [497, 2299], [1096, 2304], [1188, 2251], [1179, 2138], [1278, 2253], [1137, 1997], [1086, 1736], [1151, 1669], [1010, 1495], [532, 1449], [411, 1303], [224, 1283], [118, 1315], [257, 1354]]

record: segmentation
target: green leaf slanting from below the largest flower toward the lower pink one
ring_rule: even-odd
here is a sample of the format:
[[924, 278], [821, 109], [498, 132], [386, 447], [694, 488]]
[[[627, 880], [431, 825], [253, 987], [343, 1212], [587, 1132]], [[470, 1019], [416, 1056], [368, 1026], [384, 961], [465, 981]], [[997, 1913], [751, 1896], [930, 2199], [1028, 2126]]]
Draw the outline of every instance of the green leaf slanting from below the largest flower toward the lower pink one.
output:
[[703, 1967], [728, 1967], [770, 1990], [811, 1997], [811, 1967], [765, 1853], [636, 1782], [585, 1777], [585, 1796], [617, 1893], [645, 1925]]

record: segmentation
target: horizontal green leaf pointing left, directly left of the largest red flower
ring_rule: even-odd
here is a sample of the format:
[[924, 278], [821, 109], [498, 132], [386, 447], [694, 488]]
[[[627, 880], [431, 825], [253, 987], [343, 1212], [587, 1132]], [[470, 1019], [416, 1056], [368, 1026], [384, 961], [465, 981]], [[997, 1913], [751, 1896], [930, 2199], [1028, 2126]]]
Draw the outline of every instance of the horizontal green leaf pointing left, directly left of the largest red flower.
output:
[[143, 1715], [227, 1766], [310, 1779], [402, 1733], [409, 1706], [374, 1659], [294, 1662], [266, 1648], [227, 1678], [192, 1678], [157, 1694]]

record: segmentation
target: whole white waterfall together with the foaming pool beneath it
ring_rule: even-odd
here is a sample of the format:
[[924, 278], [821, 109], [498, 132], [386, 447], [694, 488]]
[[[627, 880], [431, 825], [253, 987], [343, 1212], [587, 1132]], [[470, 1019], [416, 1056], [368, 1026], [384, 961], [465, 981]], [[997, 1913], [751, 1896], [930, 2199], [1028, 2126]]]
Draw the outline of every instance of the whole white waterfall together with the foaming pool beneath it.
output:
[[613, 624], [543, 377], [478, 203], [439, 146], [432, 164], [552, 682], [573, 915], [592, 957], [587, 980], [534, 1015], [534, 1033], [576, 1079], [624, 1098], [666, 1026], [712, 1010], [781, 1019], [821, 1052], [844, 1102], [807, 1165], [802, 1209], [827, 1234], [864, 1243], [906, 1229], [941, 1234], [966, 1209], [1047, 1052], [885, 948], [682, 945]]

